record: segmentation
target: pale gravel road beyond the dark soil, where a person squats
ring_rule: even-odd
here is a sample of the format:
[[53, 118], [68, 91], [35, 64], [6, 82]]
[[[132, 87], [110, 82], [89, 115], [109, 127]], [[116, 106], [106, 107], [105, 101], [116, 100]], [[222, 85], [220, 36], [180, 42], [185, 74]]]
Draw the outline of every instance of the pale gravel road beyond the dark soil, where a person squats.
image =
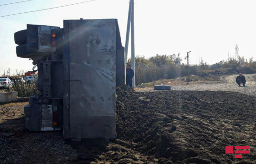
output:
[[[256, 74], [244, 75], [246, 77], [246, 87], [237, 86], [235, 80], [236, 76], [237, 75], [222, 76], [219, 81], [190, 82], [189, 85], [184, 83], [170, 85], [171, 90], [231, 91], [256, 96]], [[153, 87], [135, 88], [135, 90], [140, 92], [154, 91]]]

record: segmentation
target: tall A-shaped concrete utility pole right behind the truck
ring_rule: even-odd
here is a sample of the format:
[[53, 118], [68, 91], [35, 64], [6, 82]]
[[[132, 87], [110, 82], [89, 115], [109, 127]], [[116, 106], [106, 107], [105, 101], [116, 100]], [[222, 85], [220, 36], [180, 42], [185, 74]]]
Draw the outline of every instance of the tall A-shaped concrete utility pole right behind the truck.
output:
[[[134, 77], [132, 79], [132, 86], [136, 87], [136, 80], [135, 80], [135, 48], [134, 48], [134, 3], [133, 2], [134, 2], [133, 0], [130, 0], [130, 4], [129, 4], [126, 41], [125, 41], [125, 63], [127, 63], [129, 35], [130, 35], [130, 28], [131, 28], [131, 68], [134, 71]], [[125, 67], [126, 67], [126, 65], [125, 65]]]

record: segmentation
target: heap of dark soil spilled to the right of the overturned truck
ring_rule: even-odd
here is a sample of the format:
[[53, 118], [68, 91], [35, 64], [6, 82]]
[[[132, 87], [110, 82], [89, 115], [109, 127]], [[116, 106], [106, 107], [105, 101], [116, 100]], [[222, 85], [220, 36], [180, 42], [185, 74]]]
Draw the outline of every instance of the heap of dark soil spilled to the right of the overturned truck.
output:
[[[117, 136], [159, 163], [231, 163], [226, 145], [255, 145], [255, 97], [232, 92], [117, 89]], [[252, 148], [254, 149], [254, 148]], [[251, 150], [253, 152], [253, 150]], [[256, 160], [255, 154], [243, 159]], [[162, 162], [161, 162], [162, 161]]]

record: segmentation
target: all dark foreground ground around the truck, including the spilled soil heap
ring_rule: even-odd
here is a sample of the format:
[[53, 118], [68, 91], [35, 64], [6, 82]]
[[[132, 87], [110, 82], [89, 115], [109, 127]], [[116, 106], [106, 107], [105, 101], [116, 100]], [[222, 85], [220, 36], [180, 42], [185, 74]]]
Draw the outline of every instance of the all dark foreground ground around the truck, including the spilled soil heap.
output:
[[[26, 103], [0, 105], [22, 112]], [[235, 92], [116, 89], [117, 139], [65, 142], [0, 122], [2, 164], [255, 164], [256, 97]], [[6, 117], [6, 113], [0, 118]], [[242, 159], [225, 146], [250, 146]]]

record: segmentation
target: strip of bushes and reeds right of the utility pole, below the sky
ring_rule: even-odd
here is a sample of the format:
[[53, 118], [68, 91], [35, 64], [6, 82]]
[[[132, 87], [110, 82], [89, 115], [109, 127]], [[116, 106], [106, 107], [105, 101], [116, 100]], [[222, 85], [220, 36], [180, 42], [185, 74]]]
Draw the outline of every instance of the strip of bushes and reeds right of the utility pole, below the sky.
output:
[[[181, 64], [182, 59], [179, 54], [175, 55], [156, 55], [151, 58], [144, 56], [137, 56], [135, 58], [135, 76], [136, 85], [141, 83], [148, 83], [160, 79], [170, 79], [176, 77], [187, 76], [187, 67]], [[131, 63], [131, 59], [128, 60]], [[220, 75], [222, 73], [255, 73], [256, 61], [250, 58], [249, 62], [245, 61], [244, 57], [238, 57], [238, 60], [229, 58], [227, 61], [221, 60], [211, 66], [201, 58], [199, 66], [189, 66], [190, 75], [199, 75], [202, 73], [211, 73], [213, 75]], [[217, 71], [216, 69], [220, 70]], [[222, 73], [221, 73], [222, 72]]]

